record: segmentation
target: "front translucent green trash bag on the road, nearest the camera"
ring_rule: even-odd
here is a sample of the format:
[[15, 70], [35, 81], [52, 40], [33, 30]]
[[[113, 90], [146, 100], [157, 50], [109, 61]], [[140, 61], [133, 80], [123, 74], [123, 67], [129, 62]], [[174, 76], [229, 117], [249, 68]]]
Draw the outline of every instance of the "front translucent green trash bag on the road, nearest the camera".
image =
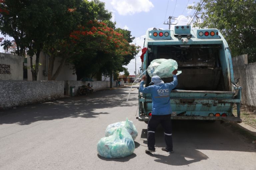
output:
[[124, 158], [131, 155], [134, 149], [132, 136], [121, 127], [113, 135], [101, 138], [97, 144], [98, 154], [104, 158]]

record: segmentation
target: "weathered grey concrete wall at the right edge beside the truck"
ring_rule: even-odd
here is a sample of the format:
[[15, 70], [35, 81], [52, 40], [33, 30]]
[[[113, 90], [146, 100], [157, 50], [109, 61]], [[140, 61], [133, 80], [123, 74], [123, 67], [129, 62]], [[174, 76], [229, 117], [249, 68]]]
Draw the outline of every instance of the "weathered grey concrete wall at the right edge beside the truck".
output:
[[256, 63], [248, 64], [247, 55], [232, 58], [234, 78], [242, 87], [241, 103], [256, 109]]

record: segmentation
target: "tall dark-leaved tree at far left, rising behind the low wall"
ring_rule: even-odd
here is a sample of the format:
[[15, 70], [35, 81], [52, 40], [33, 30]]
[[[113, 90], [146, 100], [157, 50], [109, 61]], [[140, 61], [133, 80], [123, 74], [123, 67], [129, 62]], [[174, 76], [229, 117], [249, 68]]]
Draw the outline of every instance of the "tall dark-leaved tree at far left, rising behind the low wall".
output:
[[[14, 38], [17, 55], [30, 56], [32, 79], [37, 80], [39, 55], [46, 42], [58, 39], [77, 26], [77, 13], [68, 11], [82, 0], [8, 0], [0, 2], [0, 30]], [[1, 12], [2, 11], [2, 12]], [[8, 11], [8, 12], [6, 12]], [[36, 55], [35, 67], [32, 58]]]

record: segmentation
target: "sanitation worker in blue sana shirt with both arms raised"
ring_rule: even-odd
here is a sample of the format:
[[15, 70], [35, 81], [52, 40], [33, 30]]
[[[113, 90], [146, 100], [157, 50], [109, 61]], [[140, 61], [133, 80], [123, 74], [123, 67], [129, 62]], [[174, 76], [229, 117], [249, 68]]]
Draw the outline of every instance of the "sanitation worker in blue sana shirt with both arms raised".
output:
[[[146, 153], [155, 152], [155, 131], [159, 123], [164, 128], [164, 140], [166, 147], [162, 150], [173, 153], [172, 146], [172, 126], [171, 126], [171, 105], [170, 105], [170, 91], [178, 84], [177, 70], [172, 72], [173, 81], [171, 83], [164, 83], [159, 76], [153, 76], [149, 86], [143, 87], [146, 75], [142, 77], [139, 91], [143, 93], [150, 93], [152, 97], [152, 116], [148, 121], [148, 149]], [[151, 85], [153, 84], [153, 85]]]

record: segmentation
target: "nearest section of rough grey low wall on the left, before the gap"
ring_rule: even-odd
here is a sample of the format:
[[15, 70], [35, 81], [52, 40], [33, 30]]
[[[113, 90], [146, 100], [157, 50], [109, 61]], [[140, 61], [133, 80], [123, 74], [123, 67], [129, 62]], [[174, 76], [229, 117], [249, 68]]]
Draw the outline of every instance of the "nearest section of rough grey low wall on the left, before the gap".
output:
[[64, 97], [64, 81], [0, 81], [0, 108]]

